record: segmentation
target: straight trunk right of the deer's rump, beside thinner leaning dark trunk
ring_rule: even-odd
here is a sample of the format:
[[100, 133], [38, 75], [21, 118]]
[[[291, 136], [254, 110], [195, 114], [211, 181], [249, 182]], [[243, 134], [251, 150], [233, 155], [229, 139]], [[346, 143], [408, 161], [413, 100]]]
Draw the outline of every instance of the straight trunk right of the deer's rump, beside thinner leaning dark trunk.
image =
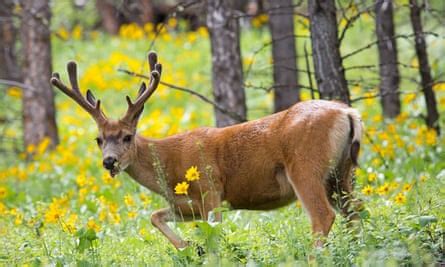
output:
[[380, 102], [383, 115], [394, 118], [400, 114], [400, 76], [397, 66], [397, 44], [394, 39], [392, 0], [376, 0], [375, 14], [380, 61]]

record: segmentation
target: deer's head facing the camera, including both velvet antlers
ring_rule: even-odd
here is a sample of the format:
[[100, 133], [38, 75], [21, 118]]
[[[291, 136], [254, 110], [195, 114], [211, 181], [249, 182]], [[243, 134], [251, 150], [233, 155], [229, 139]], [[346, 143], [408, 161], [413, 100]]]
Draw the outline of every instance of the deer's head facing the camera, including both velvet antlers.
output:
[[99, 128], [96, 141], [102, 151], [103, 166], [110, 171], [111, 176], [125, 170], [130, 164], [136, 148], [136, 127], [144, 110], [144, 103], [156, 90], [161, 78], [162, 66], [157, 63], [156, 53], [150, 52], [148, 54], [148, 63], [151, 73], [148, 88], [144, 82], [141, 84], [138, 97], [134, 103], [129, 96], [126, 97], [128, 109], [119, 120], [111, 120], [105, 116], [100, 108], [100, 100], [96, 100], [90, 90], [87, 90], [85, 97], [82, 96], [77, 81], [77, 65], [75, 62], [70, 61], [67, 64], [71, 88], [60, 80], [58, 73], [54, 73], [51, 78], [51, 83], [54, 86], [76, 101], [96, 121]]

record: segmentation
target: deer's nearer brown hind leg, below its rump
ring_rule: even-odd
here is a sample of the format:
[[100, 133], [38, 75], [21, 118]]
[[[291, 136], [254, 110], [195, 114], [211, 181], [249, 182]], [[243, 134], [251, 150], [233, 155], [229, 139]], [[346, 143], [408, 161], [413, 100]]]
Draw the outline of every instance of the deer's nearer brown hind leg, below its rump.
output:
[[[319, 170], [308, 168], [310, 162], [290, 164], [287, 168], [289, 182], [306, 209], [316, 236], [326, 237], [335, 220], [324, 185], [324, 174]], [[317, 239], [315, 245], [320, 247], [323, 241]]]

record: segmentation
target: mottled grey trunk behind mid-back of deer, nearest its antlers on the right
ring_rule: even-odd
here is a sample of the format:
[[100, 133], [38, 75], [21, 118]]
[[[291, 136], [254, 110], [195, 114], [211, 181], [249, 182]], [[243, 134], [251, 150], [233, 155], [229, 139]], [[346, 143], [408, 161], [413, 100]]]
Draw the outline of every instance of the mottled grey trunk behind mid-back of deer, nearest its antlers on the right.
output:
[[[215, 102], [221, 107], [246, 118], [239, 24], [233, 14], [234, 1], [207, 1], [207, 27], [212, 48], [213, 95]], [[240, 122], [217, 109], [215, 117], [218, 127]]]

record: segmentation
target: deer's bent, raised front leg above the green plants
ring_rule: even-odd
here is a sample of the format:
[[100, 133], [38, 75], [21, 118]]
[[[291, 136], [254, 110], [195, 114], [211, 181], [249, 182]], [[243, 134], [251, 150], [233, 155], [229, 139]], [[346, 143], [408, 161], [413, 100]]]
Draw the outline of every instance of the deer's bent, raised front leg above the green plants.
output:
[[[185, 248], [188, 244], [173, 232], [167, 225], [167, 222], [181, 219], [182, 218], [176, 216], [175, 212], [170, 208], [160, 209], [151, 214], [151, 223], [158, 228], [177, 249]], [[188, 220], [188, 218], [185, 217], [184, 220]]]

